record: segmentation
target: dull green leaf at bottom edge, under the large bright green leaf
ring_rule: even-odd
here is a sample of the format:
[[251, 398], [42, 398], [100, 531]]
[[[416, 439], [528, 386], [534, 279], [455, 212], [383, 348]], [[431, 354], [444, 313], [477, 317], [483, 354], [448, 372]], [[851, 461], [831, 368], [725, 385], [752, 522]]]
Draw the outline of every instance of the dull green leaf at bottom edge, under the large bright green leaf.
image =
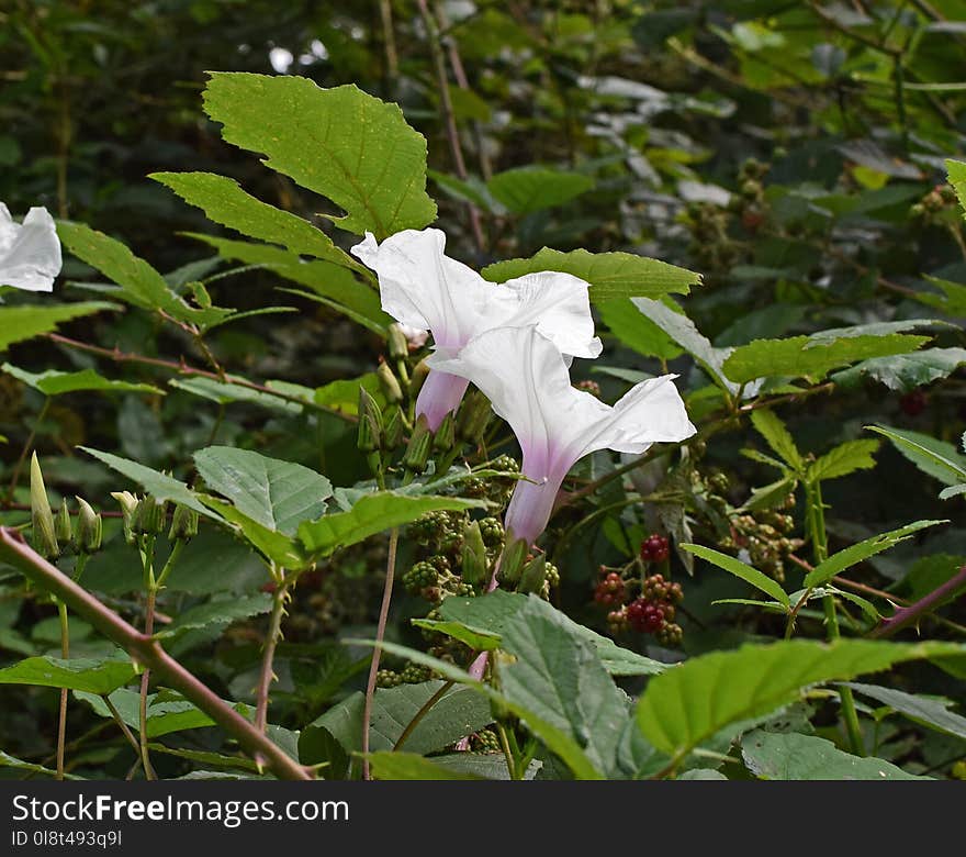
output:
[[797, 732], [752, 732], [741, 742], [749, 770], [762, 780], [928, 780], [891, 763], [843, 753], [832, 742]]

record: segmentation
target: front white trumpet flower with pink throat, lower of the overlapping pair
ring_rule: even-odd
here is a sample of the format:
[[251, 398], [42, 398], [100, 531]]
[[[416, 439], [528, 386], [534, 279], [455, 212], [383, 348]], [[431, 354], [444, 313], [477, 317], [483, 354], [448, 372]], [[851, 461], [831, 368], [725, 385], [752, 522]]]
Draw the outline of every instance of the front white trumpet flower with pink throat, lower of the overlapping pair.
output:
[[429, 365], [472, 381], [506, 420], [524, 453], [523, 475], [506, 511], [507, 544], [532, 544], [550, 520], [568, 471], [588, 453], [643, 453], [695, 433], [672, 380], [652, 378], [608, 405], [571, 386], [566, 363], [536, 326], [503, 327]]

